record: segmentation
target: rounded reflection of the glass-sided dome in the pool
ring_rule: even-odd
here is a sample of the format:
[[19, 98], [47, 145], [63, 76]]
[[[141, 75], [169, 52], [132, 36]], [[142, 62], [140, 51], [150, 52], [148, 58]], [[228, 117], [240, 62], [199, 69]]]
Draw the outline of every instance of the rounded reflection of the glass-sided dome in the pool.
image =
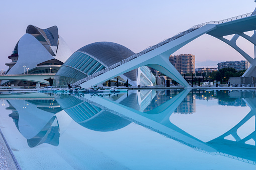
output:
[[118, 115], [73, 96], [56, 94], [60, 107], [78, 124], [94, 131], [115, 131], [131, 123]]

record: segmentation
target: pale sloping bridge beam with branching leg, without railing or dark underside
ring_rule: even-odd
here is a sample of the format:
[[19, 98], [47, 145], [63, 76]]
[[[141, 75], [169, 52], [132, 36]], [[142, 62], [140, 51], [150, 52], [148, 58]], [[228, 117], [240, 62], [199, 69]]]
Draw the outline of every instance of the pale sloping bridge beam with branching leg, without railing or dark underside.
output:
[[186, 80], [181, 76], [181, 74], [175, 69], [175, 67], [169, 62], [168, 57], [173, 54], [186, 44], [195, 40], [196, 38], [208, 33], [211, 30], [216, 29], [215, 25], [209, 24], [201, 27], [189, 34], [186, 34], [174, 41], [166, 43], [148, 53], [145, 53], [127, 63], [122, 64], [110, 71], [107, 71], [93, 79], [90, 79], [82, 84], [81, 87], [88, 88], [93, 85], [103, 83], [111, 78], [117, 77], [133, 69], [137, 69], [141, 66], [152, 67], [166, 76], [172, 78], [176, 82], [180, 83], [184, 87], [190, 87]]

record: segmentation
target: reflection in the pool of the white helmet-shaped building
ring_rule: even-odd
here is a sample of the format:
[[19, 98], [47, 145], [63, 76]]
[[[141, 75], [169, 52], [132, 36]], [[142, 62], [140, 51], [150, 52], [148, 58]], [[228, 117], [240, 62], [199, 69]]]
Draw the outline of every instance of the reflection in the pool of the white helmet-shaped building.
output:
[[42, 143], [58, 146], [59, 137], [71, 122], [71, 118], [60, 108], [53, 96], [44, 99], [31, 98], [7, 100], [9, 114], [20, 133], [27, 139], [29, 147]]

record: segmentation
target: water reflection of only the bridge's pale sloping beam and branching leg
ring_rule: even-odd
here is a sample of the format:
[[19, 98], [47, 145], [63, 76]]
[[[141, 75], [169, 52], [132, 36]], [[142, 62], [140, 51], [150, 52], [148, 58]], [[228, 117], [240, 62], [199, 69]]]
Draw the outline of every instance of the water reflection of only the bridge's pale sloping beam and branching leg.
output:
[[[187, 93], [190, 90], [184, 90], [181, 94]], [[180, 98], [186, 97], [186, 95], [180, 95]], [[188, 134], [187, 132], [183, 131], [173, 123], [169, 121], [169, 111], [163, 111], [159, 114], [147, 114], [147, 112], [143, 113], [138, 110], [132, 109], [130, 107], [124, 106], [122, 104], [116, 103], [115, 101], [110, 101], [104, 97], [93, 97], [91, 95], [85, 95], [84, 97], [76, 97], [81, 100], [84, 100], [88, 103], [94, 104], [97, 107], [100, 107], [104, 110], [108, 110], [113, 114], [117, 114], [120, 117], [128, 119], [136, 124], [142, 125], [150, 130], [157, 131], [164, 136], [171, 136], [171, 138], [182, 142], [184, 144], [192, 146], [193, 148], [197, 148], [199, 150], [207, 150], [209, 152], [215, 151], [215, 149], [209, 147], [207, 144], [202, 142], [201, 140], [193, 137], [192, 135]], [[172, 100], [172, 99], [170, 99]], [[177, 98], [175, 98], [177, 100]], [[178, 100], [182, 102], [182, 100]], [[174, 101], [174, 100], [173, 100]], [[174, 103], [176, 103], [174, 101]], [[180, 103], [176, 103], [175, 105], [179, 105]], [[167, 108], [170, 109], [170, 108]], [[175, 110], [176, 108], [174, 108]]]

